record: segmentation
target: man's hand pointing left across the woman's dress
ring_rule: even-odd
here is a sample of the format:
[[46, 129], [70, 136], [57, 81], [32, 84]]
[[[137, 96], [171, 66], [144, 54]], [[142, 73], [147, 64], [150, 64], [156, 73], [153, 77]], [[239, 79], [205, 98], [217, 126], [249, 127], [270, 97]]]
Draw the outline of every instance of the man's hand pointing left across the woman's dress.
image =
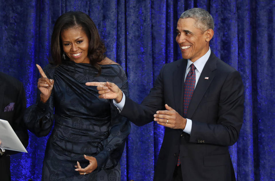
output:
[[87, 86], [97, 86], [99, 98], [101, 99], [115, 99], [117, 103], [122, 100], [122, 91], [112, 82], [86, 82]]

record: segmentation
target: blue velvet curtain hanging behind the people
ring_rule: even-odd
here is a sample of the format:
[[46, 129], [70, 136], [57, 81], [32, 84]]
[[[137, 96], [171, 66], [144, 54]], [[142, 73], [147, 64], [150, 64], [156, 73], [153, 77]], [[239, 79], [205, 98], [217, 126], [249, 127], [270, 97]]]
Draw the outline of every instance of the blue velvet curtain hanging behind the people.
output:
[[[236, 178], [275, 180], [275, 1], [0, 0], [0, 71], [23, 82], [27, 106], [35, 103], [35, 64], [48, 63], [54, 22], [67, 11], [82, 11], [97, 25], [107, 56], [124, 68], [131, 99], [141, 102], [163, 64], [181, 58], [176, 22], [192, 7], [211, 13], [211, 50], [243, 78], [244, 122], [239, 140], [230, 147]], [[12, 180], [40, 180], [48, 137], [29, 135], [29, 153], [11, 156]], [[121, 180], [152, 180], [163, 135], [164, 128], [154, 122], [132, 124]]]

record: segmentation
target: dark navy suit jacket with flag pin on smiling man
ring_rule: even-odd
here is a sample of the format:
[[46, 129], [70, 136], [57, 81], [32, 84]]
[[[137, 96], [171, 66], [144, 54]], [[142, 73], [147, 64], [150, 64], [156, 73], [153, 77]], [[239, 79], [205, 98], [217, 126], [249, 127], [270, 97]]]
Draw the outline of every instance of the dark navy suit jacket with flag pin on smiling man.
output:
[[[141, 126], [168, 104], [183, 116], [186, 65], [186, 59], [165, 64], [143, 102], [126, 97], [120, 114]], [[228, 146], [237, 141], [243, 123], [243, 89], [239, 72], [211, 52], [186, 114], [191, 133], [165, 129], [154, 180], [171, 180], [178, 154], [183, 180], [235, 180]]]

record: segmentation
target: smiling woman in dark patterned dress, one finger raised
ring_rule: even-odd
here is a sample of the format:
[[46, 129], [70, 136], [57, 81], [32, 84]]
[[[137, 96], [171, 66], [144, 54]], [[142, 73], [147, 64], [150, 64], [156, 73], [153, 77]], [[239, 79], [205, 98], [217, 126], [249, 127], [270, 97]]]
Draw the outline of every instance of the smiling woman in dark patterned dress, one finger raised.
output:
[[130, 123], [85, 82], [111, 81], [128, 94], [123, 68], [104, 55], [95, 24], [82, 12], [68, 12], [57, 19], [51, 52], [52, 64], [43, 70], [37, 65], [40, 100], [28, 107], [24, 118], [37, 136], [46, 136], [54, 124], [42, 180], [119, 181], [119, 160]]

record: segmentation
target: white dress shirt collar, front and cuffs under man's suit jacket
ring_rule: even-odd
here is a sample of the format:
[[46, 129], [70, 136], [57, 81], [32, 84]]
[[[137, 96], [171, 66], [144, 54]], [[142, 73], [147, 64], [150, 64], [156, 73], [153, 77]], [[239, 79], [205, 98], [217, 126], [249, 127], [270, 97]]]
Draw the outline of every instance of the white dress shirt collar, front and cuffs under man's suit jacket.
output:
[[[204, 54], [201, 58], [199, 58], [198, 60], [196, 60], [195, 62], [191, 62], [191, 60], [187, 60], [187, 66], [186, 66], [186, 71], [185, 71], [185, 76], [184, 76], [184, 81], [185, 81], [185, 78], [188, 74], [188, 72], [190, 71], [190, 65], [191, 64], [194, 64], [194, 66], [196, 67], [195, 69], [195, 72], [196, 72], [196, 82], [195, 82], [195, 88], [197, 86], [197, 83], [198, 83], [198, 80], [201, 76], [201, 72], [203, 71], [203, 68], [210, 56], [210, 53], [211, 53], [211, 50], [210, 50], [210, 47], [209, 47], [209, 50], [207, 51], [206, 54]], [[122, 100], [120, 101], [120, 103], [117, 103], [115, 100], [113, 100], [113, 103], [114, 105], [117, 107], [117, 109], [119, 110], [119, 112], [121, 112], [121, 110], [123, 109], [124, 107], [124, 104], [125, 104], [125, 95], [124, 93], [122, 92], [123, 94], [123, 97], [122, 97]], [[188, 133], [188, 134], [191, 134], [191, 129], [192, 129], [192, 120], [190, 119], [186, 119], [186, 126], [185, 128], [183, 129], [183, 131], [185, 133]]]

